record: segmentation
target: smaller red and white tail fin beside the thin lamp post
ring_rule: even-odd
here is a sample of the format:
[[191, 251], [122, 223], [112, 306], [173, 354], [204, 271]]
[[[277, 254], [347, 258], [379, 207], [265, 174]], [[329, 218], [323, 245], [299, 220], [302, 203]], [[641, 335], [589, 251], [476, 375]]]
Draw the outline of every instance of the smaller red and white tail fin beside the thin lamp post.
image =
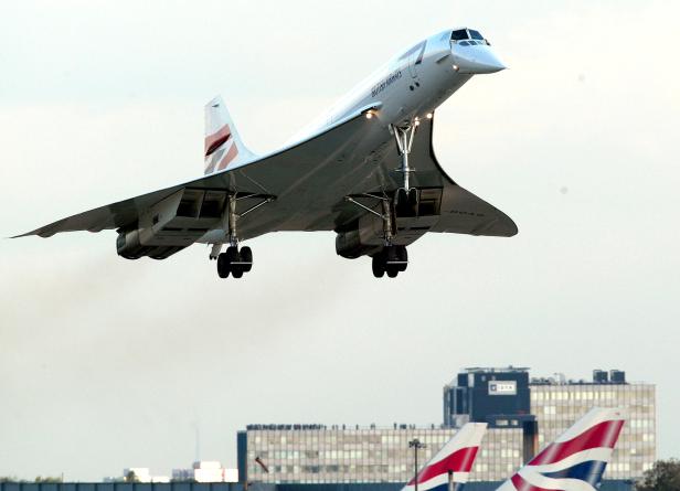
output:
[[[453, 473], [456, 491], [467, 482], [479, 444], [487, 431], [486, 423], [468, 423], [439, 449], [418, 472], [418, 491], [448, 491], [448, 474]], [[415, 489], [415, 479], [402, 491]]]

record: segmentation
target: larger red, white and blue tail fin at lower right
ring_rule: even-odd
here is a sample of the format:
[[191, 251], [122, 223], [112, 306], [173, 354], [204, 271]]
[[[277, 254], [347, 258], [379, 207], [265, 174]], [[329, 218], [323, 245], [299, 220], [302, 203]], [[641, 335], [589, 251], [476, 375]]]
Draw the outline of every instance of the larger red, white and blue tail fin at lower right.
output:
[[497, 491], [597, 490], [624, 421], [623, 409], [591, 409]]

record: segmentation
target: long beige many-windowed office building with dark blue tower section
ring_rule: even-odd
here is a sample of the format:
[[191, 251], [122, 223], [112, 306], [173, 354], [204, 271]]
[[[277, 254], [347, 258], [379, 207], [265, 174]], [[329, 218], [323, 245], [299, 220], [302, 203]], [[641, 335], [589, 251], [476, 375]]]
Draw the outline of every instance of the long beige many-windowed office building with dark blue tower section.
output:
[[444, 387], [442, 425], [249, 425], [237, 436], [238, 472], [272, 484], [403, 483], [414, 474], [410, 440], [426, 444], [424, 462], [461, 425], [480, 421], [489, 429], [469, 480], [498, 482], [593, 406], [607, 406], [626, 408], [630, 419], [606, 479], [630, 480], [656, 459], [655, 397], [652, 384], [627, 383], [620, 371], [595, 371], [585, 382], [530, 378], [523, 367], [466, 369]]

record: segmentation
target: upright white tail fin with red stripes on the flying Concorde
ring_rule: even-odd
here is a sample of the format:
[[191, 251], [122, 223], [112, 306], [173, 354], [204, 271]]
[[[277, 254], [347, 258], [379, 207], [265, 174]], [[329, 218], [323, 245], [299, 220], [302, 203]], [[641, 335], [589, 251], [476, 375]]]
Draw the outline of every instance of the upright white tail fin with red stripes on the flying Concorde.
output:
[[254, 157], [238, 136], [221, 96], [205, 105], [205, 174], [236, 166]]

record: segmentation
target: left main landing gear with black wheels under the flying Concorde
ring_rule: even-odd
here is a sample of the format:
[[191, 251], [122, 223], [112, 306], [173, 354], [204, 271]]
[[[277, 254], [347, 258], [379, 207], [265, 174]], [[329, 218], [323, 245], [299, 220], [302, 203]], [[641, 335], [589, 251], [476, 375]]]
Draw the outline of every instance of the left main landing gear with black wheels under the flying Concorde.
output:
[[[242, 213], [236, 213], [236, 202], [245, 199], [259, 199], [261, 201], [247, 209]], [[251, 213], [253, 210], [274, 201], [274, 196], [262, 196], [254, 194], [245, 194], [237, 196], [236, 194], [230, 194], [227, 196], [227, 209], [224, 213], [224, 220], [226, 222], [224, 228], [229, 231], [227, 237], [230, 246], [224, 253], [222, 250], [222, 244], [213, 244], [213, 248], [210, 253], [210, 259], [217, 259], [217, 275], [220, 278], [226, 278], [230, 274], [234, 278], [241, 278], [244, 273], [248, 273], [253, 269], [253, 250], [245, 246], [238, 248], [238, 234], [236, 233], [236, 224], [238, 218]]]

